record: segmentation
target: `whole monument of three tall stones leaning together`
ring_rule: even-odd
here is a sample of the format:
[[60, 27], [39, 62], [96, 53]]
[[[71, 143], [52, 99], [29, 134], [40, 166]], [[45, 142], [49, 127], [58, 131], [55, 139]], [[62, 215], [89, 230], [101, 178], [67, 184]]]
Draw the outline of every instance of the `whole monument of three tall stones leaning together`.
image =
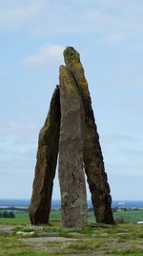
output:
[[87, 223], [85, 174], [96, 221], [113, 224], [111, 191], [88, 82], [80, 56], [72, 47], [65, 49], [64, 58], [66, 66], [59, 69], [60, 86], [54, 90], [48, 117], [39, 134], [29, 209], [31, 223], [49, 222], [59, 153], [62, 226], [83, 227]]

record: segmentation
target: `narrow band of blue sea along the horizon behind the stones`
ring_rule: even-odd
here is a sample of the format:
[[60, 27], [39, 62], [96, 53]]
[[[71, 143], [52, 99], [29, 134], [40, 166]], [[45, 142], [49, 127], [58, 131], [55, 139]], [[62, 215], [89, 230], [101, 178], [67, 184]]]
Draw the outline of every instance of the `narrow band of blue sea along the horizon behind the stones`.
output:
[[[0, 207], [29, 207], [30, 199], [0, 199]], [[59, 209], [61, 201], [53, 199], [51, 201], [52, 209]], [[88, 200], [88, 207], [92, 207], [92, 201]], [[143, 201], [140, 200], [113, 200], [112, 207], [118, 208], [143, 208]]]

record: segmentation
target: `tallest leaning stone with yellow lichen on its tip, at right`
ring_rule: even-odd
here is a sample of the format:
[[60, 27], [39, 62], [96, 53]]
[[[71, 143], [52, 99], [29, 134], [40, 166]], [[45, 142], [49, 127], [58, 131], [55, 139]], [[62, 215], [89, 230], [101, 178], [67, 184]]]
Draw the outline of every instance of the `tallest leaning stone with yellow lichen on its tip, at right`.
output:
[[112, 224], [110, 186], [105, 173], [103, 155], [92, 111], [88, 82], [85, 79], [79, 54], [72, 47], [66, 48], [64, 58], [79, 88], [85, 110], [84, 163], [90, 191], [92, 193], [92, 204], [96, 221]]

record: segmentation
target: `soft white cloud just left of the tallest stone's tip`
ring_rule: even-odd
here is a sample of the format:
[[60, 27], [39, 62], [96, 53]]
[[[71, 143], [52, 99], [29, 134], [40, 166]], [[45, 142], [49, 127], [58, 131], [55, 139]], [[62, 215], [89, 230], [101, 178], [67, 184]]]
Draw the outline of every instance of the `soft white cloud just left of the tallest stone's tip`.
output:
[[35, 55], [24, 59], [28, 67], [52, 67], [63, 63], [64, 47], [60, 45], [44, 44]]

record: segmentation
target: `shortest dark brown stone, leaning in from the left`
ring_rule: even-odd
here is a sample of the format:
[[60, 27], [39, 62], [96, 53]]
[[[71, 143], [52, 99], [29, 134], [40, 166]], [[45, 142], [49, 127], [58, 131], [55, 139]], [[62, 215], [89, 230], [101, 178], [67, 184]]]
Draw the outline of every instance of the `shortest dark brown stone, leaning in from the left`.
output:
[[57, 86], [52, 95], [48, 117], [39, 134], [37, 162], [29, 209], [31, 224], [49, 222], [52, 185], [59, 145], [59, 129], [60, 95], [59, 86]]

